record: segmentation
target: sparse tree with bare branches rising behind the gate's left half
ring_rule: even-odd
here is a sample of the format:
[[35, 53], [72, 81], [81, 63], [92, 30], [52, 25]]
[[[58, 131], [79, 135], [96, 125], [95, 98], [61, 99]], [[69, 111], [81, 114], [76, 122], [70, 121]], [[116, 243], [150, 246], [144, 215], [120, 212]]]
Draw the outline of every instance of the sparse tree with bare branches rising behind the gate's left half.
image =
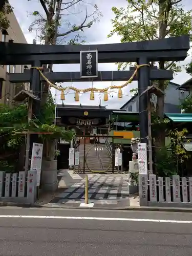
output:
[[[33, 0], [28, 0], [33, 1]], [[93, 12], [89, 14], [88, 8], [86, 7], [85, 16], [79, 25], [71, 24], [67, 17], [72, 14], [72, 9], [78, 9], [76, 14], [82, 12], [83, 5], [89, 5], [83, 0], [39, 0], [44, 13], [39, 11], [34, 11], [33, 16], [35, 17], [34, 22], [29, 27], [29, 31], [32, 31], [36, 26], [40, 30], [39, 39], [45, 45], [56, 45], [56, 44], [82, 44], [84, 42], [84, 37], [78, 32], [82, 32], [85, 28], [90, 28], [96, 21], [99, 20], [101, 13], [99, 12], [96, 5], [93, 6]], [[75, 11], [75, 10], [74, 10]], [[96, 16], [95, 16], [96, 15]], [[63, 30], [63, 25], [67, 25], [68, 30]], [[68, 36], [73, 34], [71, 39]], [[52, 65], [49, 66], [52, 69]], [[44, 93], [41, 99], [41, 105], [44, 105], [47, 100], [49, 90], [49, 84], [44, 84]]]

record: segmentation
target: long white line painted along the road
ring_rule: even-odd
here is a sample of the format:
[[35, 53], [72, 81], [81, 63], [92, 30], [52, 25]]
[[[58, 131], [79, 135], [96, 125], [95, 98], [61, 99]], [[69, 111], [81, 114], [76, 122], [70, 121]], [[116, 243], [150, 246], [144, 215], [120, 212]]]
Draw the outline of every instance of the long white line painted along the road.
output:
[[98, 221], [138, 221], [159, 223], [192, 224], [192, 221], [179, 220], [155, 220], [155, 219], [132, 219], [132, 218], [102, 218], [102, 217], [74, 217], [74, 216], [40, 216], [40, 215], [0, 215], [0, 218], [24, 218], [24, 219], [64, 219], [64, 220], [98, 220]]

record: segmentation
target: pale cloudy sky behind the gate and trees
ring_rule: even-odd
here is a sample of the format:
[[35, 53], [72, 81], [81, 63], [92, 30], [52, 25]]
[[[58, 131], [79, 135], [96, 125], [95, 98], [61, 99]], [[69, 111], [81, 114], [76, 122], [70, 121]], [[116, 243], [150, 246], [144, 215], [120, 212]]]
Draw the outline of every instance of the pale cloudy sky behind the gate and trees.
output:
[[[29, 26], [33, 22], [34, 18], [30, 14], [33, 11], [41, 12], [41, 5], [38, 3], [38, 0], [9, 0], [10, 4], [14, 7], [14, 13], [18, 20], [20, 27], [22, 28], [24, 35], [28, 41], [28, 44], [32, 44], [33, 39], [35, 38], [36, 32], [29, 32]], [[22, 5], [19, 5], [18, 2], [22, 2]], [[68, 1], [69, 2], [69, 1]], [[90, 0], [89, 3], [97, 4], [99, 10], [102, 12], [103, 16], [100, 17], [100, 22], [95, 23], [90, 29], [85, 29], [83, 32], [83, 36], [86, 37], [86, 44], [112, 44], [120, 42], [120, 37], [118, 35], [114, 35], [111, 38], [107, 38], [107, 35], [113, 29], [111, 19], [114, 18], [114, 14], [112, 12], [112, 7], [126, 7], [126, 0]], [[182, 1], [186, 10], [192, 9], [192, 1], [191, 0], [183, 0]], [[88, 13], [91, 13], [92, 6], [88, 5]], [[70, 20], [71, 24], [81, 24], [84, 15], [85, 15], [86, 7], [81, 6], [81, 9], [70, 9], [70, 13], [68, 13], [67, 19]], [[41, 12], [43, 13], [43, 11]], [[65, 32], [68, 30], [68, 25], [63, 25], [60, 32]], [[37, 31], [37, 34], [39, 32]], [[69, 37], [70, 39], [70, 37]], [[38, 41], [37, 41], [38, 44]], [[190, 56], [187, 57], [184, 61], [181, 61], [181, 65], [186, 65], [190, 61]], [[98, 63], [98, 71], [116, 71], [117, 65], [115, 63]], [[73, 65], [54, 65], [53, 71], [64, 72], [64, 71], [80, 71], [80, 64]], [[177, 74], [172, 80], [175, 83], [182, 84], [186, 80], [188, 80], [190, 76], [185, 72], [183, 68], [182, 72]], [[127, 78], [127, 80], [129, 77]], [[124, 81], [118, 82], [94, 82], [93, 87], [97, 88], [105, 88], [113, 85], [121, 85]], [[63, 87], [74, 86], [78, 89], [89, 88], [92, 86], [91, 82], [66, 82], [62, 84]], [[69, 91], [66, 95], [66, 100], [63, 102], [65, 104], [73, 104], [73, 105], [98, 105], [101, 99], [101, 105], [106, 106], [108, 109], [119, 109], [124, 103], [126, 103], [132, 96], [130, 90], [133, 88], [137, 88], [137, 81], [132, 82], [129, 86], [123, 89], [123, 97], [118, 99], [117, 91], [114, 91], [110, 94], [108, 101], [103, 101], [103, 95], [95, 94], [95, 100], [90, 100], [90, 93], [80, 94], [80, 101], [74, 101], [74, 93]], [[61, 104], [60, 101], [60, 92], [55, 91], [55, 89], [51, 89], [53, 97], [55, 98], [56, 94], [56, 103]]]

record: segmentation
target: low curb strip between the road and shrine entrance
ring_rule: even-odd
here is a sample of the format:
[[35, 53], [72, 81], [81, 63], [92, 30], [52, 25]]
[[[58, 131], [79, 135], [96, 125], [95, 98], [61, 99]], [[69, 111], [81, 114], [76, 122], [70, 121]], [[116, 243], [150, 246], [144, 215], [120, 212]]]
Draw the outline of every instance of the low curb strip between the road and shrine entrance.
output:
[[123, 210], [123, 211], [159, 211], [159, 212], [192, 212], [192, 208], [176, 208], [176, 207], [150, 207], [150, 206], [127, 206], [127, 207], [77, 207], [77, 206], [67, 206], [61, 204], [41, 204], [41, 203], [34, 203], [34, 204], [17, 204], [11, 202], [0, 202], [0, 207], [23, 207], [23, 208], [50, 208], [50, 209], [78, 209], [78, 210]]

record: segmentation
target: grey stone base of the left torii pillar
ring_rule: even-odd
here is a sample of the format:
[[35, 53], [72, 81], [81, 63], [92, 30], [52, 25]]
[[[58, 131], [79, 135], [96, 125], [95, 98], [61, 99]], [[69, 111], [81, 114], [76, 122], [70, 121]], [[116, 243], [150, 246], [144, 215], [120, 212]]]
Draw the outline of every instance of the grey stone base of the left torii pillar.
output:
[[58, 188], [57, 160], [42, 160], [41, 173], [42, 190], [56, 191]]

